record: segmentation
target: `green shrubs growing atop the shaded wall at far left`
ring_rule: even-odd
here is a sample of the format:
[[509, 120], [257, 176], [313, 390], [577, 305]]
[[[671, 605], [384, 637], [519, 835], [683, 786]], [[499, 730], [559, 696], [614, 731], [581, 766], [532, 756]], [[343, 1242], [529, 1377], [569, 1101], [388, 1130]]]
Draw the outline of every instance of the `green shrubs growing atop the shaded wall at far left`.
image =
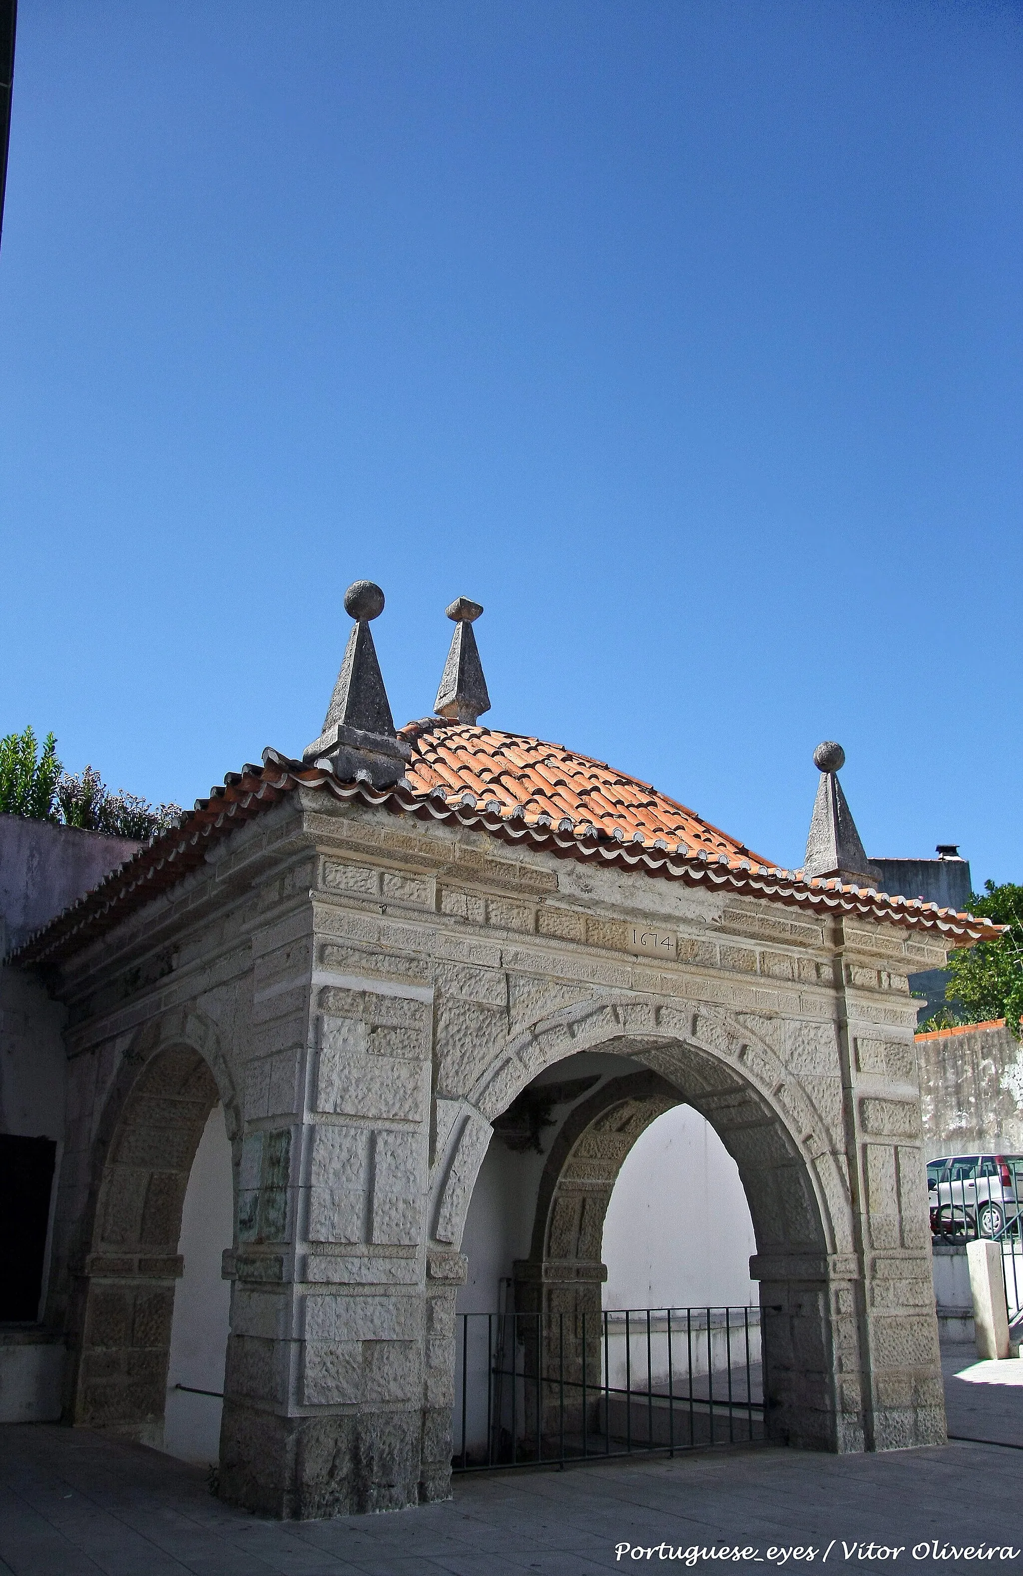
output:
[[0, 813], [80, 826], [104, 837], [131, 837], [145, 843], [173, 826], [181, 807], [151, 805], [123, 788], [110, 793], [91, 766], [71, 777], [57, 760], [54, 734], [47, 733], [39, 755], [35, 731], [25, 728], [0, 739]]

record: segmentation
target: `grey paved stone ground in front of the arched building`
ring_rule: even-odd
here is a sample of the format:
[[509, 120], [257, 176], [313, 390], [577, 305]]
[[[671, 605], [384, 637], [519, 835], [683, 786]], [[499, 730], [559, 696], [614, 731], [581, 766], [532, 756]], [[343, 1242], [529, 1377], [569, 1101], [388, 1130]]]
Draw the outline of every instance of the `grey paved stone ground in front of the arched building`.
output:
[[[973, 1374], [958, 1379], [962, 1370]], [[1001, 1370], [1001, 1371], [998, 1371]], [[1018, 1374], [1018, 1381], [1017, 1381]], [[977, 1382], [980, 1381], [980, 1382]], [[1014, 1381], [1014, 1382], [1006, 1382]], [[900, 1570], [1023, 1570], [1012, 1560], [914, 1560], [932, 1540], [1023, 1551], [1023, 1362], [946, 1362], [949, 1426], [1003, 1445], [950, 1444], [875, 1456], [750, 1448], [456, 1480], [454, 1500], [320, 1522], [230, 1510], [206, 1475], [169, 1456], [57, 1425], [0, 1428], [0, 1570], [16, 1576], [599, 1576], [665, 1568], [657, 1551], [616, 1560], [618, 1543], [752, 1548], [763, 1571], [812, 1546], [815, 1562], [861, 1573], [889, 1560], [846, 1544], [898, 1546]], [[1020, 1448], [1014, 1448], [1018, 1445]], [[684, 1570], [671, 1560], [667, 1568]], [[703, 1571], [722, 1570], [700, 1562]]]

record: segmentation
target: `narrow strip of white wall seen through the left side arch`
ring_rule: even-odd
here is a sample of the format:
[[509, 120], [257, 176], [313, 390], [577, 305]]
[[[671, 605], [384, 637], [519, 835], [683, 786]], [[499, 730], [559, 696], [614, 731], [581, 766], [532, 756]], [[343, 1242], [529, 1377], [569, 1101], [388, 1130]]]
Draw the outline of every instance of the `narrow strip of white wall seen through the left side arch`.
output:
[[221, 1412], [214, 1396], [175, 1390], [224, 1388], [224, 1360], [230, 1327], [230, 1281], [222, 1280], [224, 1248], [233, 1239], [232, 1154], [224, 1108], [216, 1105], [195, 1150], [184, 1190], [178, 1253], [184, 1273], [173, 1299], [164, 1450], [181, 1461], [210, 1463], [221, 1455]]

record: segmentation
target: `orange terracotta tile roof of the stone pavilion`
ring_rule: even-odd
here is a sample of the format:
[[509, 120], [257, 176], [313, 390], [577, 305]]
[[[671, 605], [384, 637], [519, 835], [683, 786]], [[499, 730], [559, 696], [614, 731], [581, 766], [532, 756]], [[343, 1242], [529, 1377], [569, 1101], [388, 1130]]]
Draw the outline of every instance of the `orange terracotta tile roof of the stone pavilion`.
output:
[[296, 788], [358, 799], [394, 815], [457, 823], [596, 865], [727, 889], [815, 911], [859, 914], [911, 930], [936, 930], [971, 946], [991, 941], [999, 925], [974, 914], [887, 897], [834, 881], [804, 881], [750, 853], [649, 783], [517, 733], [427, 717], [400, 730], [411, 745], [407, 775], [396, 788], [339, 782], [333, 772], [263, 750], [262, 766], [229, 772], [222, 788], [181, 816], [181, 824], [140, 848], [126, 864], [11, 955], [17, 963], [57, 963], [120, 924], [159, 892], [203, 864], [206, 851]]

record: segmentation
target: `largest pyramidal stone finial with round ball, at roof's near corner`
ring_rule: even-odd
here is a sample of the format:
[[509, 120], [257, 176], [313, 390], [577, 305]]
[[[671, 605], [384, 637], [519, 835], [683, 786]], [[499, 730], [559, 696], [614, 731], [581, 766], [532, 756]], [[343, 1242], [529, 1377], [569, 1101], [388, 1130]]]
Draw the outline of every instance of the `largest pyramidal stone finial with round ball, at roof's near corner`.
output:
[[318, 739], [303, 750], [304, 761], [326, 763], [342, 782], [372, 782], [389, 788], [404, 775], [411, 752], [394, 731], [383, 687], [370, 619], [383, 613], [383, 591], [372, 580], [356, 580], [345, 591], [345, 613], [355, 619], [340, 673]]

